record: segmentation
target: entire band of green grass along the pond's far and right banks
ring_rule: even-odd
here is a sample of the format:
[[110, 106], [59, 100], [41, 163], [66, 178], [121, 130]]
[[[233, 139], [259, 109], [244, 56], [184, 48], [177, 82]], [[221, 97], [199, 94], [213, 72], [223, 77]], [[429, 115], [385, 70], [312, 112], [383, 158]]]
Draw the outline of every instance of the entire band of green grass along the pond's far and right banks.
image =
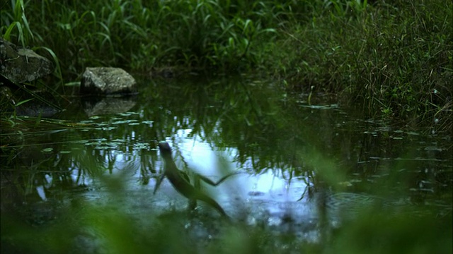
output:
[[341, 92], [371, 116], [452, 126], [452, 1], [2, 5], [2, 36], [51, 49], [64, 80], [86, 66], [253, 73], [291, 90]]

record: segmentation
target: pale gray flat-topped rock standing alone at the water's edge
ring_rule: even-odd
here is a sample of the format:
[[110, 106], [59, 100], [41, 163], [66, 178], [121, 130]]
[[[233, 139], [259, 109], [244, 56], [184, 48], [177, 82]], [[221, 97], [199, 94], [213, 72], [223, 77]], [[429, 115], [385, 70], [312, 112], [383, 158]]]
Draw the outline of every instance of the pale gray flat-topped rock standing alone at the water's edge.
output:
[[137, 92], [132, 75], [122, 68], [86, 68], [81, 80], [82, 95], [130, 95]]

